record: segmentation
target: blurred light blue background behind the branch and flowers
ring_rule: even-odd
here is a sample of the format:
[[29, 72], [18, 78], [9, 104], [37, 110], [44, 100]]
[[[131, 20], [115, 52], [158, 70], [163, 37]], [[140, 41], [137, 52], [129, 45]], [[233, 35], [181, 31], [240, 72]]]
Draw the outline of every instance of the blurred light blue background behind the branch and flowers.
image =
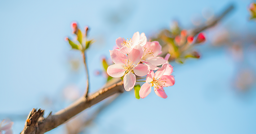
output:
[[[110, 59], [115, 39], [139, 31], [148, 39], [179, 24], [193, 29], [231, 11], [207, 29], [196, 46], [199, 59], [171, 62], [176, 83], [167, 99], [150, 93], [137, 100], [124, 92], [94, 105], [47, 134], [256, 134], [256, 22], [251, 0], [1, 0], [0, 120], [23, 130], [33, 108], [45, 116], [84, 94], [85, 71], [79, 51], [64, 38], [74, 37], [71, 22], [89, 26], [96, 42], [87, 52], [90, 91], [106, 83], [102, 59]], [[114, 100], [115, 99], [115, 100]], [[114, 101], [112, 101], [114, 100]]]

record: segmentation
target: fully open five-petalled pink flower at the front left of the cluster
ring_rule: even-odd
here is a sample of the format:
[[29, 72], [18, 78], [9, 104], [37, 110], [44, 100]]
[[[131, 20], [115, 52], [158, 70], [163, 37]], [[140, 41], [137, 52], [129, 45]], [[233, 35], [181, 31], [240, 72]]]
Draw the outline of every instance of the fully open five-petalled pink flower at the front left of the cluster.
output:
[[[136, 83], [136, 76], [145, 76], [150, 68], [141, 64], [143, 50], [141, 46], [135, 46], [126, 56], [118, 50], [110, 50], [110, 56], [114, 65], [107, 68], [107, 74], [114, 78], [122, 77], [124, 74], [124, 89], [131, 91]], [[135, 74], [135, 75], [134, 75]]]

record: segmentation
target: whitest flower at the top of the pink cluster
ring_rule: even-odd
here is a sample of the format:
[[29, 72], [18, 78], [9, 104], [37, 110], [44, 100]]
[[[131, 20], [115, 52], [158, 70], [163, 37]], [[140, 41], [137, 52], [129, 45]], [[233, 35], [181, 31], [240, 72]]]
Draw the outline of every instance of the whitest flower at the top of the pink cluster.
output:
[[147, 38], [144, 33], [136, 32], [133, 34], [132, 39], [125, 40], [124, 38], [117, 38], [115, 40], [116, 46], [120, 49], [120, 51], [124, 54], [128, 54], [131, 52], [132, 48], [137, 45], [144, 46], [147, 42]]

